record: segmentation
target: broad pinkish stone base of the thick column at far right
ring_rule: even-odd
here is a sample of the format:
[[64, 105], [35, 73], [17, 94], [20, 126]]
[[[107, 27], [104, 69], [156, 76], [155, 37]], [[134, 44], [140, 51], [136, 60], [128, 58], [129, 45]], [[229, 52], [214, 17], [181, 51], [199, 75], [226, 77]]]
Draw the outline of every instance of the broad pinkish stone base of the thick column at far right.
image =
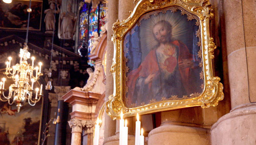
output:
[[256, 104], [235, 107], [211, 128], [212, 145], [255, 144]]

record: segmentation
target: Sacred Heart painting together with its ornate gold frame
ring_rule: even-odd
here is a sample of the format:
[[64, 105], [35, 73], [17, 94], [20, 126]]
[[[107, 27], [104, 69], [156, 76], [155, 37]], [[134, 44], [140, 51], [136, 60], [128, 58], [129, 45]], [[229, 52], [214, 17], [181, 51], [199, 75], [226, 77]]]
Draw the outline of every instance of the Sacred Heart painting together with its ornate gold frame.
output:
[[112, 119], [137, 113], [216, 106], [223, 85], [212, 72], [216, 48], [209, 35], [208, 1], [134, 1], [131, 16], [113, 24]]

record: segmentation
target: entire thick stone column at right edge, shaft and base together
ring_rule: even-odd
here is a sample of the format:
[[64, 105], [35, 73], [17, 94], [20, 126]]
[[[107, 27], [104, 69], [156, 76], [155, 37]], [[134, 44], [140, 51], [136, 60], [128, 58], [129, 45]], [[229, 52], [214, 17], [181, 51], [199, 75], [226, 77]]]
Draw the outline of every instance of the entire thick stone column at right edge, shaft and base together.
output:
[[255, 1], [225, 0], [231, 111], [211, 128], [212, 145], [255, 144]]

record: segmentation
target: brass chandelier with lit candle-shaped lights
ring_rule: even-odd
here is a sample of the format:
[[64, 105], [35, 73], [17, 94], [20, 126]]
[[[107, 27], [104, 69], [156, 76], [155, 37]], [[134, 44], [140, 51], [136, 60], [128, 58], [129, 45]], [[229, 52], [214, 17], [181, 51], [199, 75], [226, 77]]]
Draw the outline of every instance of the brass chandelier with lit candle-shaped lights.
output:
[[[18, 113], [20, 111], [20, 107], [22, 107], [22, 105], [27, 100], [31, 106], [35, 106], [35, 104], [42, 97], [42, 84], [39, 94], [39, 88], [35, 88], [34, 90], [34, 83], [39, 80], [39, 76], [43, 75], [41, 73], [42, 63], [39, 62], [39, 67], [36, 66], [34, 68], [35, 57], [31, 57], [31, 66], [30, 64], [28, 64], [27, 59], [30, 59], [30, 52], [28, 52], [28, 46], [25, 43], [24, 48], [20, 49], [19, 63], [11, 67], [11, 57], [9, 57], [9, 61], [6, 62], [6, 71], [4, 72], [4, 74], [7, 76], [7, 78], [14, 81], [14, 83], [9, 86], [8, 96], [5, 96], [4, 94], [4, 92], [6, 91], [4, 86], [6, 79], [3, 78], [2, 82], [0, 82], [0, 100], [4, 102], [8, 101], [10, 105], [15, 103]], [[33, 74], [34, 72], [35, 75]], [[33, 96], [33, 92], [35, 92], [35, 96]]]

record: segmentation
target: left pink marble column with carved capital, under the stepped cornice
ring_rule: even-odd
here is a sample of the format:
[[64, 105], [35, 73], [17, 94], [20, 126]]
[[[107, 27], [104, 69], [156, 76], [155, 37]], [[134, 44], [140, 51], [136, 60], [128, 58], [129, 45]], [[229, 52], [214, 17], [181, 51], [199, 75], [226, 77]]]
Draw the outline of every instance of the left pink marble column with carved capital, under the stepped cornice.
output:
[[71, 145], [80, 145], [82, 128], [86, 125], [86, 121], [79, 119], [71, 119], [70, 121], [68, 121], [68, 124], [72, 128]]

